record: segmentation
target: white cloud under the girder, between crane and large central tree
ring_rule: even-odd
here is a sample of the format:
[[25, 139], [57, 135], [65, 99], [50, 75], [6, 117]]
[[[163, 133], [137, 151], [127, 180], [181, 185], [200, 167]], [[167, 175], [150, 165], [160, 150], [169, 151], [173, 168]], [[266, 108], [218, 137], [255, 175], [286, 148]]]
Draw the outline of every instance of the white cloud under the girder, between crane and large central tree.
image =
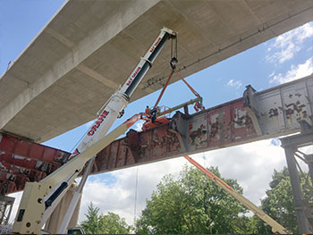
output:
[[[168, 173], [178, 175], [185, 163], [182, 158], [175, 158], [138, 166], [137, 218], [146, 206], [146, 198], [150, 198], [152, 191], [157, 189], [162, 177]], [[114, 184], [110, 186], [104, 180], [100, 180], [101, 175], [94, 176], [94, 179], [87, 182], [80, 207], [80, 222], [85, 220], [84, 214], [87, 213], [90, 201], [100, 208], [102, 214], [110, 211], [125, 218], [129, 224], [134, 221], [137, 167], [110, 174], [115, 178]]]

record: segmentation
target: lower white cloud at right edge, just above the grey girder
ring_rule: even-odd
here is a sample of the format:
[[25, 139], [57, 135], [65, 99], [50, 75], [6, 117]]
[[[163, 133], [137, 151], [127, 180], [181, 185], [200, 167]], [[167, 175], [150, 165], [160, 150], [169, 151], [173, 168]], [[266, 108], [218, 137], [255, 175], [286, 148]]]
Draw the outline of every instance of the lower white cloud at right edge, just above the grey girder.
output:
[[309, 58], [305, 63], [296, 65], [292, 64], [290, 71], [285, 74], [279, 73], [269, 80], [269, 83], [283, 84], [292, 80], [299, 80], [313, 73], [313, 58]]

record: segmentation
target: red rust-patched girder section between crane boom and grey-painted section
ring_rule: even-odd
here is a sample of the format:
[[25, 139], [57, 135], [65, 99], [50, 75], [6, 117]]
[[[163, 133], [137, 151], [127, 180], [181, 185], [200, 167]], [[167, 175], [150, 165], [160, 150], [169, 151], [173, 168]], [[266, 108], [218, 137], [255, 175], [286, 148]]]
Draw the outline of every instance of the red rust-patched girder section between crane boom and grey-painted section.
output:
[[97, 154], [93, 173], [240, 144], [257, 137], [240, 98], [190, 117], [176, 113], [170, 123], [152, 130], [130, 130], [125, 138], [115, 140]]

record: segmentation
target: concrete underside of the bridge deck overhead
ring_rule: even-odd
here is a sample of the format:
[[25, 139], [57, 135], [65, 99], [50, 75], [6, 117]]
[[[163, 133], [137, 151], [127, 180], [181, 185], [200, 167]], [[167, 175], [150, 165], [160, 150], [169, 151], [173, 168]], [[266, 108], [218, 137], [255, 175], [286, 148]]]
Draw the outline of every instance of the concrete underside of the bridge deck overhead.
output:
[[[312, 15], [311, 0], [69, 1], [1, 77], [0, 129], [42, 142], [94, 119], [163, 26], [186, 77]], [[131, 101], [162, 87], [169, 60], [170, 43]]]

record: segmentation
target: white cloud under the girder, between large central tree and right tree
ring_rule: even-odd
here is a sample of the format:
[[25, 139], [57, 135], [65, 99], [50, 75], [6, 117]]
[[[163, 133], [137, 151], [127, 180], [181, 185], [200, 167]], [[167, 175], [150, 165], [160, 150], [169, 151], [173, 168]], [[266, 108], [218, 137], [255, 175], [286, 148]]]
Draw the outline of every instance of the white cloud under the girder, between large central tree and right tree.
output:
[[219, 166], [223, 177], [238, 180], [244, 196], [257, 205], [269, 188], [274, 169], [281, 170], [285, 165], [283, 148], [273, 145], [271, 139], [228, 147], [213, 152], [208, 160]]

